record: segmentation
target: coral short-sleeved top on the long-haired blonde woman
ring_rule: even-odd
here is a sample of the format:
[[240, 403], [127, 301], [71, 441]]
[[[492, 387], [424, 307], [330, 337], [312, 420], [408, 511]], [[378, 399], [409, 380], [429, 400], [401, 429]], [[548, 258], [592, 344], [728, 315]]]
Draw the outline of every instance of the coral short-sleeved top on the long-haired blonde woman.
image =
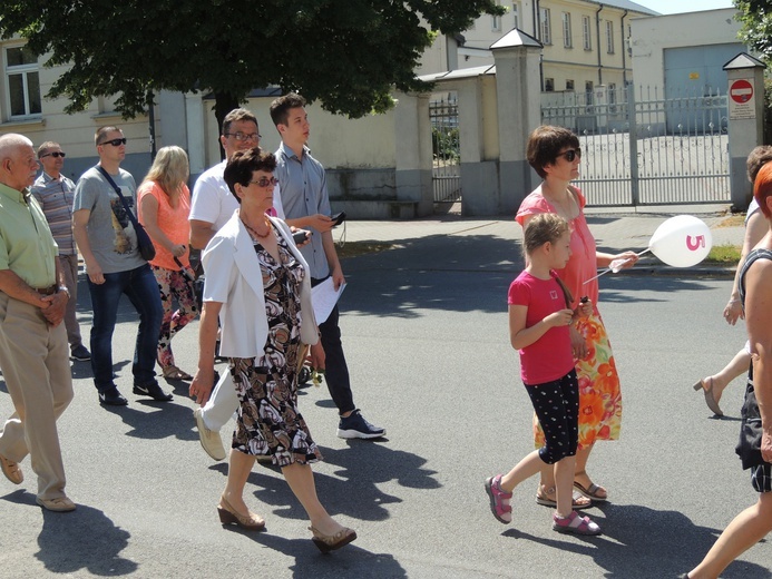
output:
[[[139, 186], [139, 189], [137, 189], [139, 207], [143, 206], [143, 198], [146, 195], [152, 195], [158, 200], [157, 223], [160, 230], [164, 232], [173, 244], [183, 244], [188, 247], [190, 243], [190, 223], [187, 220], [187, 217], [190, 215], [190, 190], [187, 188], [187, 185], [183, 185], [183, 190], [177, 197], [179, 203], [176, 208], [169, 205], [169, 198], [155, 181], [145, 181]], [[138, 212], [139, 223], [145, 225], [141, 213], [141, 210]], [[179, 269], [179, 266], [174, 261], [172, 252], [158, 243], [154, 242], [153, 245], [156, 246], [156, 256], [150, 264], [156, 267], [164, 267], [165, 269]], [[177, 257], [186, 267], [190, 265], [188, 255], [189, 251], [182, 257]]]

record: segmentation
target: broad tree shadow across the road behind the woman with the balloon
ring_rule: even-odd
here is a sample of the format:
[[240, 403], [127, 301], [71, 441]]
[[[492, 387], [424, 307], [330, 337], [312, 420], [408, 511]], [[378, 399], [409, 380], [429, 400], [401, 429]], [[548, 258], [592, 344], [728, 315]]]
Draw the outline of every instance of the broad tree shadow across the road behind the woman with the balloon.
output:
[[[422, 311], [506, 312], [509, 285], [525, 267], [519, 242], [491, 235], [401, 241], [392, 249], [342, 263], [349, 282], [341, 298], [344, 314], [404, 320], [426, 315]], [[641, 267], [642, 275], [631, 271], [604, 276], [602, 304], [641, 300], [642, 292], [652, 290], [662, 292], [646, 297], [656, 302], [672, 300], [668, 294], [706, 288], [692, 273], [655, 276], [651, 267]]]

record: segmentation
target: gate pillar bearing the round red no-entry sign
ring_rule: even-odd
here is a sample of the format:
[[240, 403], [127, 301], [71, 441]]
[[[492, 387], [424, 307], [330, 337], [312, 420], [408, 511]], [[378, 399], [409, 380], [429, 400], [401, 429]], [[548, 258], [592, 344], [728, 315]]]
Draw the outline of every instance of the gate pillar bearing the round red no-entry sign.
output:
[[737, 209], [745, 209], [753, 194], [745, 159], [764, 141], [765, 68], [763, 62], [745, 52], [724, 65], [729, 80], [730, 188], [732, 206]]

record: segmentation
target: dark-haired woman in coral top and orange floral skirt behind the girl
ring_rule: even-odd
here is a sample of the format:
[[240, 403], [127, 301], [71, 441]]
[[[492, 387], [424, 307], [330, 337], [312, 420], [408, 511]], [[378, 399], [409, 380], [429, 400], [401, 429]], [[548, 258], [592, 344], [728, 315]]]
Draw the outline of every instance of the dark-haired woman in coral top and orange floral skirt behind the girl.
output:
[[[578, 188], [570, 185], [570, 181], [579, 176], [582, 160], [582, 149], [576, 135], [560, 127], [538, 127], [528, 139], [527, 157], [544, 181], [524, 199], [515, 218], [524, 228], [534, 215], [540, 213], [555, 213], [569, 223], [571, 258], [558, 275], [576, 300], [587, 296], [595, 304], [594, 314], [579, 318], [571, 330], [580, 406], [574, 487], [586, 497], [576, 497], [574, 508], [584, 508], [589, 506], [587, 499], [608, 499], [606, 489], [595, 484], [588, 477], [587, 460], [596, 441], [619, 438], [622, 422], [619, 377], [606, 328], [597, 308], [598, 282], [585, 282], [594, 277], [599, 267], [608, 267], [615, 259], [627, 259], [624, 267], [629, 267], [638, 257], [633, 252], [612, 255], [596, 251], [595, 238], [589, 232], [583, 210], [585, 198]], [[544, 435], [538, 421], [534, 422], [536, 444], [541, 446]], [[555, 479], [550, 469], [541, 471], [536, 501], [550, 507], [555, 504]]]

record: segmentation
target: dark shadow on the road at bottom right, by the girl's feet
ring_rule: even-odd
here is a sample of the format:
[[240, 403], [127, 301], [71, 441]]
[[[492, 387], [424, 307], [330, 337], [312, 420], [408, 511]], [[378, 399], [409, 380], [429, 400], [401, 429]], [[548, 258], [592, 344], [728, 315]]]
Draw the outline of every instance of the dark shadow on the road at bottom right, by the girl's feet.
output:
[[[556, 534], [555, 539], [546, 539], [517, 529], [508, 529], [502, 534], [589, 557], [605, 570], [603, 577], [637, 579], [677, 577], [690, 571], [722, 531], [696, 526], [681, 512], [648, 507], [608, 503], [602, 507], [602, 514], [595, 509], [588, 512], [603, 529], [603, 536], [559, 539]], [[741, 560], [730, 565], [721, 577], [770, 579], [772, 572]]]

